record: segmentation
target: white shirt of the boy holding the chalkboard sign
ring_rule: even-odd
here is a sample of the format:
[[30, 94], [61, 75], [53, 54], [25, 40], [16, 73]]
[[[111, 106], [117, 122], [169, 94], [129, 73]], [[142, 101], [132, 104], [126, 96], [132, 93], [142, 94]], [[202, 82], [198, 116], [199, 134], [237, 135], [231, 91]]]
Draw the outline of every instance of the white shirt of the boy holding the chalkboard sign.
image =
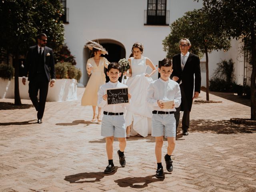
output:
[[[112, 113], [124, 113], [126, 111], [126, 106], [128, 103], [122, 103], [122, 104], [113, 104], [113, 105], [107, 105], [107, 101], [103, 99], [103, 95], [107, 93], [106, 89], [110, 88], [126, 88], [128, 87], [125, 84], [120, 83], [119, 81], [116, 83], [107, 82], [106, 84], [103, 84], [100, 87], [100, 90], [98, 91], [98, 107], [103, 108], [106, 112], [112, 112]], [[130, 100], [129, 100], [130, 102]]]

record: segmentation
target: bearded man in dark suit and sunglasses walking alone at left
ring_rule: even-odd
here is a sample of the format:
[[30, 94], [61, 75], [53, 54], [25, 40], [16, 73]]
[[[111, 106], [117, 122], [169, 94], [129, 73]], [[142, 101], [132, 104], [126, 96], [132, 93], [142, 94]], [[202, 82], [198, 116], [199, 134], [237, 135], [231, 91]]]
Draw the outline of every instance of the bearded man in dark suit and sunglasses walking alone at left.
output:
[[[52, 49], [46, 46], [46, 34], [38, 34], [37, 42], [37, 45], [28, 50], [22, 83], [26, 84], [28, 74], [29, 97], [37, 110], [37, 122], [42, 123], [49, 82], [50, 87], [53, 87], [55, 82], [55, 69]], [[39, 102], [38, 90], [40, 90]]]

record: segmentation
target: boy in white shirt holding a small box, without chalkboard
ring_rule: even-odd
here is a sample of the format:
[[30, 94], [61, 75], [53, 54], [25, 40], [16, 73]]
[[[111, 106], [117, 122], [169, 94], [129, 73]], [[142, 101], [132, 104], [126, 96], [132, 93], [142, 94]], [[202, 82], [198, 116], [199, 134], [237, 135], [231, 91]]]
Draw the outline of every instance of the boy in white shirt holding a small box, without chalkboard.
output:
[[176, 121], [174, 118], [175, 108], [180, 106], [180, 86], [170, 79], [172, 74], [172, 60], [165, 58], [159, 64], [160, 78], [148, 86], [147, 101], [153, 108], [152, 136], [156, 137], [155, 154], [157, 161], [156, 177], [163, 178], [162, 146], [163, 136], [167, 138], [167, 154], [164, 156], [166, 169], [172, 172], [171, 155], [175, 147]]

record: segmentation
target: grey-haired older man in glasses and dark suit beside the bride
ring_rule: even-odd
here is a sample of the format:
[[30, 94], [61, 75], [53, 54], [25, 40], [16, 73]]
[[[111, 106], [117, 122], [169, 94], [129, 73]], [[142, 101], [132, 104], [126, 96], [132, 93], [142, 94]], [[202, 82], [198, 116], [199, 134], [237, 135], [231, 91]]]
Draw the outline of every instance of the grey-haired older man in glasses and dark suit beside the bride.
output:
[[[189, 114], [192, 108], [193, 98], [197, 98], [201, 88], [200, 59], [197, 55], [188, 52], [191, 44], [186, 38], [180, 40], [180, 54], [172, 58], [172, 80], [180, 84], [181, 104], [176, 108], [176, 133], [179, 125], [180, 110], [184, 111], [182, 117], [182, 134], [188, 135]], [[194, 95], [193, 95], [194, 91]]]

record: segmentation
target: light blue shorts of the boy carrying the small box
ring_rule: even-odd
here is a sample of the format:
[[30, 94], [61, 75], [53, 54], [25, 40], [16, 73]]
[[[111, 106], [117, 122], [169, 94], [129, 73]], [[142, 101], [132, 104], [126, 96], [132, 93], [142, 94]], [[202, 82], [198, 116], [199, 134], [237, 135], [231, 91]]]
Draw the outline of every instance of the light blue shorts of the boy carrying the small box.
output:
[[176, 120], [174, 114], [153, 114], [151, 136], [164, 136], [165, 138], [176, 137]]

